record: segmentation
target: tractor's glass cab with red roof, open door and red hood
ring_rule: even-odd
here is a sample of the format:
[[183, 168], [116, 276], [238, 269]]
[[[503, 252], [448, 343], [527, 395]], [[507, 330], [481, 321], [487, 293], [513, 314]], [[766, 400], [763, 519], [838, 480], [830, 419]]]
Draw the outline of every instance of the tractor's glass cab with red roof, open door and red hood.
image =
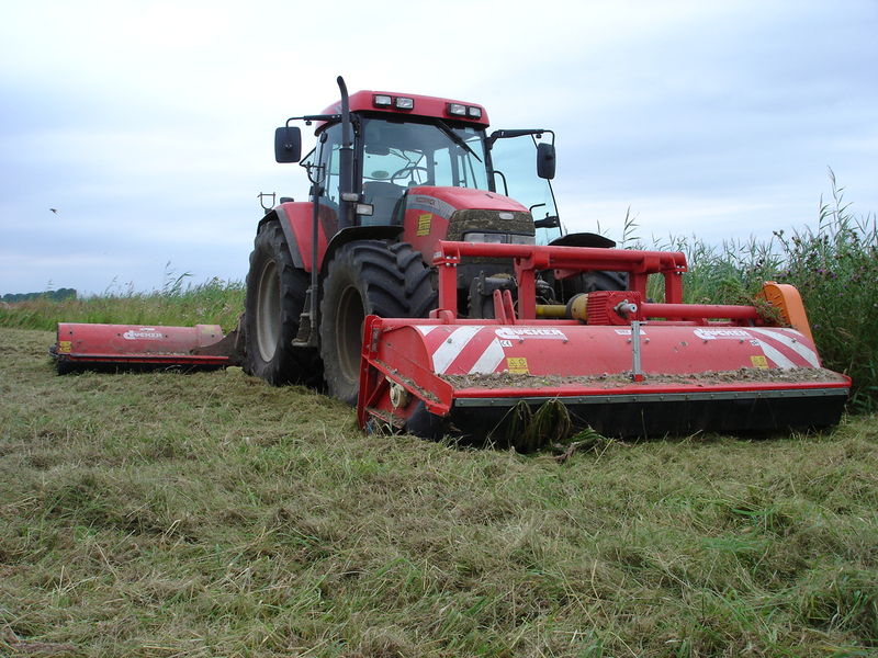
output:
[[[339, 110], [335, 105], [324, 115], [301, 117], [319, 122], [318, 143], [302, 166], [327, 236], [347, 227], [401, 226], [404, 239], [429, 250], [428, 242], [448, 237], [455, 211], [506, 211], [503, 217], [515, 213], [516, 223], [507, 226], [497, 216], [484, 230], [458, 237], [509, 242], [527, 236], [539, 243], [560, 237], [550, 183], [554, 147], [542, 140], [544, 135], [554, 139], [551, 131], [488, 134], [483, 107], [431, 97], [360, 91], [349, 98], [347, 121]], [[288, 141], [292, 131], [297, 133], [279, 128]], [[283, 150], [278, 160], [290, 161]], [[482, 194], [460, 193], [476, 190]], [[521, 234], [524, 215], [528, 226]]]

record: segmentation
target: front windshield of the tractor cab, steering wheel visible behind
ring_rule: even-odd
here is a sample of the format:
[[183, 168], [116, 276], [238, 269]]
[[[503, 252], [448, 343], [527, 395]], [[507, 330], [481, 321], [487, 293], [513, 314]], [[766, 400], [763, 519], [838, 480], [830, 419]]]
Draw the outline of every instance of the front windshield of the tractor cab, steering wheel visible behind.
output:
[[363, 120], [364, 186], [439, 185], [487, 190], [484, 131], [431, 123]]

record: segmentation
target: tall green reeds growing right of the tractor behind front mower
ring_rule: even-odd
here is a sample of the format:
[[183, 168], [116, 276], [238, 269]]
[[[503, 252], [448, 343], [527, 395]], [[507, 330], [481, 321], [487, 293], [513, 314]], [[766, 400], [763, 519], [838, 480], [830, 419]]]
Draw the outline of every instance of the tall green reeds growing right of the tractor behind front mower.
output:
[[[765, 281], [795, 285], [801, 293], [823, 365], [854, 379], [851, 408], [878, 409], [878, 220], [855, 215], [830, 170], [831, 194], [820, 200], [815, 227], [776, 230], [708, 245], [671, 236], [640, 248], [683, 251], [689, 264], [686, 302], [750, 303]], [[637, 225], [626, 216], [624, 236]], [[630, 241], [630, 240], [629, 240]], [[660, 281], [651, 294], [661, 297]]]

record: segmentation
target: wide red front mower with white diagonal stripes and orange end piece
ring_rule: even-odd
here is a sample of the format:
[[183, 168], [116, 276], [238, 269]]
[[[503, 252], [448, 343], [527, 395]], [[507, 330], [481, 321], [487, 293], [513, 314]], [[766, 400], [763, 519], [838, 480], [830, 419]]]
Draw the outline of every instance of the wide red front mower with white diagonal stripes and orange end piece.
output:
[[[459, 319], [457, 265], [511, 259], [517, 300], [495, 291], [493, 319]], [[440, 242], [439, 307], [430, 319], [364, 325], [362, 428], [423, 436], [520, 432], [547, 404], [564, 423], [617, 436], [815, 428], [838, 422], [851, 381], [821, 367], [795, 287], [766, 283], [757, 306], [684, 304], [683, 253]], [[555, 279], [619, 271], [628, 291], [537, 303]], [[664, 303], [646, 297], [651, 274]], [[515, 438], [511, 438], [515, 441]]]

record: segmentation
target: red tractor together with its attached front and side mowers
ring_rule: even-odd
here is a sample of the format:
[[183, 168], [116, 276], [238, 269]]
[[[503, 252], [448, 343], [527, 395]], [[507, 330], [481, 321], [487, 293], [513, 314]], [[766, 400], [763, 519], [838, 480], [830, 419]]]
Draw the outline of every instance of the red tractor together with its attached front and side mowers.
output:
[[[338, 83], [338, 104], [275, 132], [275, 159], [301, 160], [311, 194], [260, 220], [240, 330], [61, 324], [59, 372], [239, 363], [275, 385], [325, 382], [364, 428], [504, 428], [524, 445], [547, 426], [838, 421], [851, 381], [821, 366], [792, 286], [767, 282], [753, 305], [686, 304], [683, 253], [563, 235], [551, 131], [488, 133], [474, 103]], [[316, 124], [304, 159], [294, 121]]]

